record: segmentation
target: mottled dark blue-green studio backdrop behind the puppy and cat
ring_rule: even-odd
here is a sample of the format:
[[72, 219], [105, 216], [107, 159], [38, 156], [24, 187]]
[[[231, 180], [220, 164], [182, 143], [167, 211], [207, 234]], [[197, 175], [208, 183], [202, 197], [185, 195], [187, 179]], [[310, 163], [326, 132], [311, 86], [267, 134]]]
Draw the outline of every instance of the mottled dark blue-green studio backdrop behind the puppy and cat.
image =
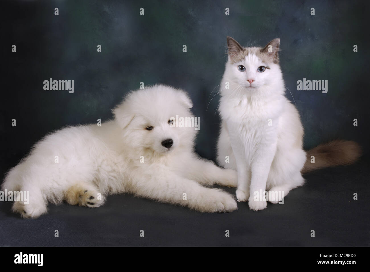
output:
[[[306, 148], [341, 138], [369, 150], [367, 1], [5, 1], [1, 6], [3, 172], [47, 132], [111, 118], [110, 109], [140, 82], [189, 92], [201, 117], [196, 150], [214, 159], [219, 97], [210, 102], [210, 94], [214, 88], [211, 97], [217, 93], [223, 74], [226, 36], [243, 46], [264, 46], [280, 37], [282, 71], [302, 117]], [[74, 93], [44, 91], [50, 77], [74, 80]], [[297, 91], [296, 82], [304, 77], [328, 80], [328, 93]], [[290, 100], [292, 95], [287, 93]]]

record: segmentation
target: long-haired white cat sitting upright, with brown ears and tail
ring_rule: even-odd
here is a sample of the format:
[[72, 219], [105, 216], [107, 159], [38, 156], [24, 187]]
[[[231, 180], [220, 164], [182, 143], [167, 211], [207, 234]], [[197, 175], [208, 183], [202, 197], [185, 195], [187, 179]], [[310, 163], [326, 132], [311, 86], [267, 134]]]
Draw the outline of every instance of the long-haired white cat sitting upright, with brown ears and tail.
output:
[[299, 113], [285, 97], [279, 38], [263, 48], [243, 48], [228, 37], [227, 45], [217, 160], [225, 168], [237, 169], [238, 201], [248, 201], [255, 211], [264, 209], [266, 200], [280, 202], [302, 185], [303, 172], [356, 161], [360, 147], [353, 141], [329, 142], [307, 154], [303, 150]]

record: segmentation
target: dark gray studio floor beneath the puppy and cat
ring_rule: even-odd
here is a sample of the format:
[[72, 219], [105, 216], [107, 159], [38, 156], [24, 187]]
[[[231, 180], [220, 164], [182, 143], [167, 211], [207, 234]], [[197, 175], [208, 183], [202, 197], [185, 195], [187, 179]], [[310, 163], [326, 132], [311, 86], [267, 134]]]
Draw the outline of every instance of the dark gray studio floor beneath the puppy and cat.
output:
[[306, 180], [283, 205], [259, 212], [239, 203], [232, 213], [202, 214], [114, 195], [100, 208], [49, 205], [48, 214], [21, 219], [0, 202], [0, 246], [369, 246], [369, 160]]

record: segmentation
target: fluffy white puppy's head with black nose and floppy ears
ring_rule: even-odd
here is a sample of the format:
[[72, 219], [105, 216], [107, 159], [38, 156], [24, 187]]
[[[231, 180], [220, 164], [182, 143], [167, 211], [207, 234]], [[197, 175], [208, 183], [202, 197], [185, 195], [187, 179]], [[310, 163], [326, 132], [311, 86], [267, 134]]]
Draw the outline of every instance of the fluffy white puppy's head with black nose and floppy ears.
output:
[[138, 152], [164, 155], [192, 148], [195, 128], [176, 125], [176, 116], [194, 118], [192, 105], [185, 91], [155, 85], [129, 93], [113, 114], [125, 144]]

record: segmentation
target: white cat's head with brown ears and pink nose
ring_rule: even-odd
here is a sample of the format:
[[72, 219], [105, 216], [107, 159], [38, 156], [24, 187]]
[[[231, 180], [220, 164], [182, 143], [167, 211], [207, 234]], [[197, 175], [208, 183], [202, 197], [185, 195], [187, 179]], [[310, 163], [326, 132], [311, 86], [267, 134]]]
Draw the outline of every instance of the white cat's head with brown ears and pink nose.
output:
[[[237, 93], [261, 93], [269, 87], [283, 85], [279, 66], [280, 39], [276, 38], [265, 47], [242, 47], [231, 37], [227, 37], [228, 62], [224, 80], [231, 85], [227, 92], [237, 89]], [[280, 88], [281, 89], [281, 88]]]

